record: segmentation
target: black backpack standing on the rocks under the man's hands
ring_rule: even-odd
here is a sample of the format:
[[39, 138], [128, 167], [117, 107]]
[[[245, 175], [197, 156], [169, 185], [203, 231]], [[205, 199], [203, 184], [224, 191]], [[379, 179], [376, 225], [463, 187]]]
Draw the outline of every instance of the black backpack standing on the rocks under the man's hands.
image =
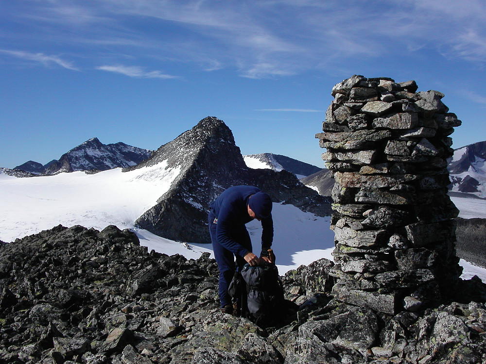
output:
[[241, 316], [260, 327], [278, 324], [286, 311], [283, 286], [275, 264], [245, 264], [230, 283], [229, 294], [239, 299]]

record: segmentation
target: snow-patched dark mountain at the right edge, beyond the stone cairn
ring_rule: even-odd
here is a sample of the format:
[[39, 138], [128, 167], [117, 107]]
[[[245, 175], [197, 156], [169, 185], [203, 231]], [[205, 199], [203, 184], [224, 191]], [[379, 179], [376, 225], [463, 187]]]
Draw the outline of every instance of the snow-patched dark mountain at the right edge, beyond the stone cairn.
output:
[[449, 160], [450, 190], [486, 198], [486, 141], [454, 150]]

